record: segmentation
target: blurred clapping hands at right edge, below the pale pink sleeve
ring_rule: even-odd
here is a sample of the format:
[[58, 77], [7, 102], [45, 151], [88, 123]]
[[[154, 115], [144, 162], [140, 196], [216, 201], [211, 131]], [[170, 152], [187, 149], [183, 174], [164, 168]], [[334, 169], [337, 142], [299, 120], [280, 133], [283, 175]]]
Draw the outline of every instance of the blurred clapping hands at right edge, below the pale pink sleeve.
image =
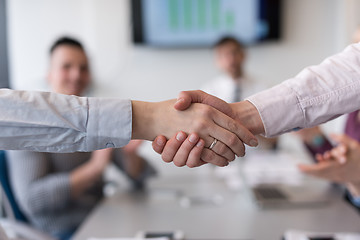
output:
[[319, 155], [319, 163], [300, 164], [299, 169], [315, 177], [345, 183], [349, 190], [360, 195], [360, 144], [346, 135], [332, 135], [332, 138], [339, 143], [337, 147]]

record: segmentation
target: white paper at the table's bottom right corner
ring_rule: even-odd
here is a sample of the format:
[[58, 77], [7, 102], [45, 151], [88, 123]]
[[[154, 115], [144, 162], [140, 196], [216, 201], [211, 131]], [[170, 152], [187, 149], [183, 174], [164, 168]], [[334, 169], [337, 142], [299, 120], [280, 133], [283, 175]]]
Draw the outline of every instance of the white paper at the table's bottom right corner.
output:
[[288, 230], [284, 234], [285, 240], [309, 240], [309, 237], [333, 237], [335, 240], [359, 240], [360, 233], [329, 233]]

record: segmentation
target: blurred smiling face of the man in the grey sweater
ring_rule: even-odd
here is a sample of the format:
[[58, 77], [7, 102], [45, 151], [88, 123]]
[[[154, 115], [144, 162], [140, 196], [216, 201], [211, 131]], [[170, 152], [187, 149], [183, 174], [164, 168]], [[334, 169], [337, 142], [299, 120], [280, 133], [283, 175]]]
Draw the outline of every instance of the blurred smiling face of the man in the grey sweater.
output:
[[71, 45], [55, 48], [51, 55], [48, 81], [54, 92], [81, 96], [90, 83], [84, 50]]

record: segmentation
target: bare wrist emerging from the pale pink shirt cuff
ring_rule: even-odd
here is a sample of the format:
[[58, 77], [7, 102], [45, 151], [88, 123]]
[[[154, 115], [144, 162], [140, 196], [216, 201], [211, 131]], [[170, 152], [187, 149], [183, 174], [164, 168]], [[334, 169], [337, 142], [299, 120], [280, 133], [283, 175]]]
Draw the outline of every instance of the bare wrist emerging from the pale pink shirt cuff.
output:
[[254, 135], [264, 134], [264, 124], [256, 107], [249, 101], [231, 103], [235, 119]]

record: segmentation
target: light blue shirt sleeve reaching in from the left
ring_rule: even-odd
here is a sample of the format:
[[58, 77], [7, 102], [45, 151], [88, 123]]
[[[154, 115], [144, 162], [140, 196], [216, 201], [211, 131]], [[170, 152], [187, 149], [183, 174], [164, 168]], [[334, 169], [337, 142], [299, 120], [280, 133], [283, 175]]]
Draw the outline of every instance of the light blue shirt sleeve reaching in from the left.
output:
[[118, 148], [130, 141], [131, 128], [130, 100], [0, 89], [0, 149]]

